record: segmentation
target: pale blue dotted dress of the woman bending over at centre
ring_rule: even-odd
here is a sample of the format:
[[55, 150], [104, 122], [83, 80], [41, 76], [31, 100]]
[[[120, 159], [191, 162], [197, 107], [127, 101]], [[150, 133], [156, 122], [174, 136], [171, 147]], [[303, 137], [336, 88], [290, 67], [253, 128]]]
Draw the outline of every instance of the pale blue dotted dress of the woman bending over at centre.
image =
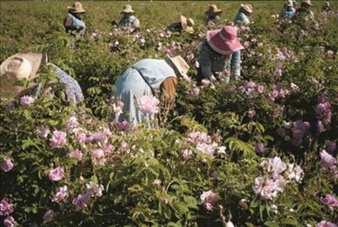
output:
[[176, 77], [176, 75], [166, 60], [139, 60], [125, 70], [117, 79], [116, 90], [112, 94], [125, 104], [118, 120], [127, 120], [134, 127], [144, 122], [145, 117], [149, 117], [150, 120], [154, 119], [154, 115], [145, 116], [139, 111], [137, 103], [145, 95], [157, 95], [160, 85], [169, 77]]

